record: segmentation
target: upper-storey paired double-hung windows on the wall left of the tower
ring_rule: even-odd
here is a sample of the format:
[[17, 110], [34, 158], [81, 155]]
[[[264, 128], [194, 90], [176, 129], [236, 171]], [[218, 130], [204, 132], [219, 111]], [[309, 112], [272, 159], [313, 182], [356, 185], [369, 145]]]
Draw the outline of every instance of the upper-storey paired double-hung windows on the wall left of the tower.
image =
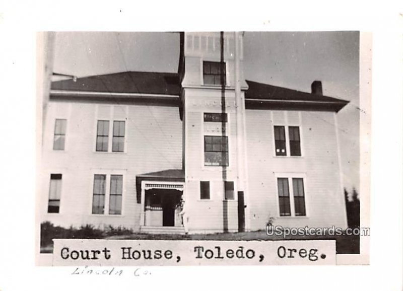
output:
[[[98, 120], [97, 123], [97, 152], [108, 152], [109, 149], [109, 120]], [[125, 122], [113, 121], [112, 128], [112, 152], [122, 153], [124, 152], [124, 134], [125, 134]]]

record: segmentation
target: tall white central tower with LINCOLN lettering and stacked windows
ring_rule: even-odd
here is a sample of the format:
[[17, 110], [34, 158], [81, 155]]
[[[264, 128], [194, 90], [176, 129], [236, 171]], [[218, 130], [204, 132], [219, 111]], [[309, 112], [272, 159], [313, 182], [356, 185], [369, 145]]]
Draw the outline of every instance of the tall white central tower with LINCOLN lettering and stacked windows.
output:
[[190, 233], [243, 231], [247, 84], [242, 35], [185, 32], [181, 43], [184, 224]]

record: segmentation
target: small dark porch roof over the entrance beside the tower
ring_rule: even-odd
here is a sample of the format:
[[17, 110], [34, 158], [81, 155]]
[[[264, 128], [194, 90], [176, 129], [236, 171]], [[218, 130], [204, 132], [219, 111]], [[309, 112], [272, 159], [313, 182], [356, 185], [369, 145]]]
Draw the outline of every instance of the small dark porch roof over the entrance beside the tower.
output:
[[137, 203], [141, 203], [142, 181], [161, 182], [184, 182], [185, 171], [183, 169], [169, 169], [158, 172], [151, 172], [136, 176]]

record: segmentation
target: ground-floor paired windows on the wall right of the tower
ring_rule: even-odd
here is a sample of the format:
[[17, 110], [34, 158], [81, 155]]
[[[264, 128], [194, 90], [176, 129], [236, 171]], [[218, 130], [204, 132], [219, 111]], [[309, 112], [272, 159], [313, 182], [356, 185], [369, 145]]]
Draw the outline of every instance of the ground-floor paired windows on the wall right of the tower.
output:
[[280, 216], [306, 216], [304, 179], [291, 179], [292, 189], [289, 188], [289, 178], [277, 178]]

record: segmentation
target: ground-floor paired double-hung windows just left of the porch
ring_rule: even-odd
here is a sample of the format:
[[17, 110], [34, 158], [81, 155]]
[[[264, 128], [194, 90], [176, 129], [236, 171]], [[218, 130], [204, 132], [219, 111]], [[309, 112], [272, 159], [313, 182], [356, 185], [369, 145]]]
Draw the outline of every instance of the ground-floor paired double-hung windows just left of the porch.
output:
[[[107, 183], [110, 185], [109, 191], [107, 191]], [[105, 207], [109, 209], [109, 214], [122, 214], [122, 194], [123, 175], [95, 174], [92, 214], [104, 214]], [[109, 199], [106, 198], [108, 196]]]

